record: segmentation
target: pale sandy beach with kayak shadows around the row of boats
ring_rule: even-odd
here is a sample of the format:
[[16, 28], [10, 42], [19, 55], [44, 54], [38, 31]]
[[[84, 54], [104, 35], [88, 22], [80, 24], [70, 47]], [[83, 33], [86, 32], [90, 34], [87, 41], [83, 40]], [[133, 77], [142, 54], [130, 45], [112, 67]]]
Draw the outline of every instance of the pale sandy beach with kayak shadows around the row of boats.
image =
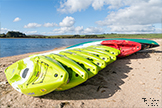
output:
[[[4, 69], [29, 55], [53, 50], [0, 58], [0, 107], [162, 107], [162, 39], [153, 39], [159, 47], [117, 59], [85, 83], [62, 92], [30, 97], [14, 90]], [[144, 102], [144, 99], [147, 100]], [[152, 102], [152, 100], [156, 100]], [[147, 104], [146, 104], [147, 103]], [[158, 105], [158, 106], [157, 106]]]

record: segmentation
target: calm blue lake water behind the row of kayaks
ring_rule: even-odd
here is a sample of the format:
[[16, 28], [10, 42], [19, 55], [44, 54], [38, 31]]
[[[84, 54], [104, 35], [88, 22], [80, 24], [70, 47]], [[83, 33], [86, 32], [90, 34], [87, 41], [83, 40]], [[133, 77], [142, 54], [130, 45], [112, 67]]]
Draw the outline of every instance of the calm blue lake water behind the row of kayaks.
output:
[[0, 39], [0, 57], [51, 50], [97, 39]]

